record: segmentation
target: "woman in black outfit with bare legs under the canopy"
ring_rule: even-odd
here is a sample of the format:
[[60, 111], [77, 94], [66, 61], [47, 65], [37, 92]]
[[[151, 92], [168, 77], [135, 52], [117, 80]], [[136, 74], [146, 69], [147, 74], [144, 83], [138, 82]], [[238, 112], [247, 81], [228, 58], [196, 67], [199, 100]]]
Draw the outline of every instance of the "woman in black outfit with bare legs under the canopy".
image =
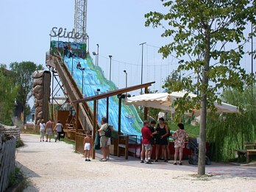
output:
[[156, 148], [156, 157], [155, 157], [154, 161], [158, 162], [158, 153], [159, 153], [159, 149], [161, 146], [163, 158], [164, 158], [165, 162], [167, 163], [168, 161], [166, 159], [166, 146], [168, 144], [167, 135], [169, 134], [169, 132], [168, 132], [168, 128], [165, 125], [164, 118], [159, 118], [159, 124], [157, 125], [156, 131], [157, 131], [158, 135], [157, 135], [157, 139], [156, 139], [157, 148]]

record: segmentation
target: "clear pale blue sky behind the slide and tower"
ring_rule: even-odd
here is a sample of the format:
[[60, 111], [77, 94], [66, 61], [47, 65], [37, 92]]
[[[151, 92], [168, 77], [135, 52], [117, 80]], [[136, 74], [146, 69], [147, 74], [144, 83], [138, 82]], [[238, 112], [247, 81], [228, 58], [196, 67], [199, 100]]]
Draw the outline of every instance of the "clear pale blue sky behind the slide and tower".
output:
[[[0, 63], [3, 64], [32, 61], [45, 66], [51, 28], [63, 27], [67, 31], [74, 28], [74, 0], [1, 0], [0, 7]], [[163, 29], [144, 26], [144, 14], [154, 10], [167, 11], [160, 0], [88, 0], [90, 53], [96, 51], [98, 43], [99, 66], [107, 79], [110, 73], [108, 56], [113, 56], [111, 79], [118, 88], [125, 87], [124, 70], [128, 86], [141, 84], [140, 43], [146, 42], [143, 83], [156, 82], [151, 90], [163, 91], [163, 80], [177, 69], [179, 60], [175, 57], [162, 60], [157, 53], [158, 47], [170, 43], [170, 39], [160, 37]], [[247, 47], [249, 49], [250, 45]], [[242, 62], [249, 71], [250, 59], [245, 58]]]

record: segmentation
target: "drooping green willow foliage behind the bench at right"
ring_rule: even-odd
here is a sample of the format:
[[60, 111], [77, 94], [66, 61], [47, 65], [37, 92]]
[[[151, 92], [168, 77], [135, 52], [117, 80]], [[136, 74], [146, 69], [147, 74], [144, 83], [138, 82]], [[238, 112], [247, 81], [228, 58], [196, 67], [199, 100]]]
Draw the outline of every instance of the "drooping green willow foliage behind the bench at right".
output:
[[256, 141], [256, 92], [247, 87], [224, 90], [225, 102], [239, 106], [241, 113], [211, 114], [207, 118], [207, 138], [215, 143], [213, 157], [216, 161], [235, 158], [235, 150], [244, 149], [244, 141]]

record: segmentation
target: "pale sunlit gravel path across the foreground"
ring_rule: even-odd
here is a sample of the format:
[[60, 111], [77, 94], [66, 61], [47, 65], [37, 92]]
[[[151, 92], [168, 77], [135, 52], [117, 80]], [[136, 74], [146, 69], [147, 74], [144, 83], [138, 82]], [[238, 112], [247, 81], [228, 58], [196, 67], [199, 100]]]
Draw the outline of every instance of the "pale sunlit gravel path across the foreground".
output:
[[38, 135], [21, 138], [25, 146], [18, 149], [16, 162], [30, 181], [25, 191], [256, 191], [255, 168], [255, 177], [199, 178], [194, 171], [136, 167], [129, 161], [85, 162], [62, 141], [39, 142]]

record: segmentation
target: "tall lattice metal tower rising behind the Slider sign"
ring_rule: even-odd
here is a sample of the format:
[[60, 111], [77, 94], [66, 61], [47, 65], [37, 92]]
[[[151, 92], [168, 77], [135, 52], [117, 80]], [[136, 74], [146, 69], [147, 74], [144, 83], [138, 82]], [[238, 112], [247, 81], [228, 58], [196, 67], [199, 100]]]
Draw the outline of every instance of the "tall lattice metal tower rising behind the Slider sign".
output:
[[87, 0], [75, 0], [74, 30], [80, 34], [85, 34], [84, 38], [75, 39], [77, 42], [86, 42], [86, 22], [87, 21]]

